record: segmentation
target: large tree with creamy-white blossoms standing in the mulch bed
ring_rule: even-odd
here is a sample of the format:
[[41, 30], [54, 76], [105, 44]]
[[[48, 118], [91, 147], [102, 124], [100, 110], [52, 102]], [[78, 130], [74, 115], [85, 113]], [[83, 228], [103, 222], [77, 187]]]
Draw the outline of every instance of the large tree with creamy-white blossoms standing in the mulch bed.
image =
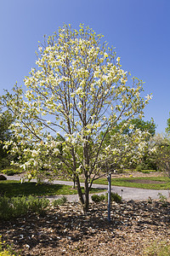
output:
[[[114, 145], [105, 147], [106, 134], [121, 119], [143, 116], [150, 96], [140, 96], [143, 82], [127, 80], [130, 73], [122, 70], [114, 49], [89, 27], [63, 26], [45, 42], [38, 48], [37, 69], [25, 79], [26, 91], [16, 85], [3, 102], [18, 120], [14, 131], [26, 154], [22, 166], [75, 177], [86, 212], [92, 183], [116, 152]], [[18, 150], [14, 143], [13, 150]]]

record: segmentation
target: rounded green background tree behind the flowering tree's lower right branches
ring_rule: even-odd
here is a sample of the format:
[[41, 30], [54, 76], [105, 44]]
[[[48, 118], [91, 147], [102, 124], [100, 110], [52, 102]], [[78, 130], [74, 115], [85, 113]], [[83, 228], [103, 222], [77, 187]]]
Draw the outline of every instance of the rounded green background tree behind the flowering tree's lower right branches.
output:
[[[120, 160], [116, 162], [115, 169], [132, 168], [141, 171], [142, 169], [156, 169], [156, 162], [150, 159], [148, 142], [150, 137], [153, 137], [156, 133], [156, 124], [153, 119], [150, 121], [144, 121], [143, 119], [130, 119], [122, 120], [118, 125], [113, 127], [109, 133], [105, 136], [105, 145], [114, 144], [117, 149], [123, 147]], [[101, 136], [105, 134], [105, 131], [101, 131]], [[122, 140], [120, 140], [120, 136]], [[119, 137], [113, 141], [112, 137]], [[134, 137], [138, 137], [135, 139]], [[140, 152], [140, 146], [143, 144], [143, 151]], [[142, 153], [142, 154], [141, 154]], [[123, 165], [122, 165], [123, 162]], [[113, 166], [113, 165], [111, 165]]]

